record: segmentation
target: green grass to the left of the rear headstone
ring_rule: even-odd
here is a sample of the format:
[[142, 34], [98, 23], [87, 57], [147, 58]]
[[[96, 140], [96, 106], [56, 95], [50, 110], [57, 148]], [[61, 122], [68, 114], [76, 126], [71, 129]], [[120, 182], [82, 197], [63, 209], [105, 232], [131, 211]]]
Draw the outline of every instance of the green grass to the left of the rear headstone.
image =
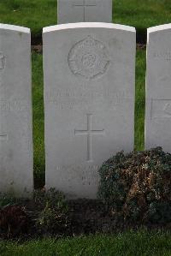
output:
[[1, 0], [0, 23], [30, 27], [35, 37], [56, 24], [57, 0]]

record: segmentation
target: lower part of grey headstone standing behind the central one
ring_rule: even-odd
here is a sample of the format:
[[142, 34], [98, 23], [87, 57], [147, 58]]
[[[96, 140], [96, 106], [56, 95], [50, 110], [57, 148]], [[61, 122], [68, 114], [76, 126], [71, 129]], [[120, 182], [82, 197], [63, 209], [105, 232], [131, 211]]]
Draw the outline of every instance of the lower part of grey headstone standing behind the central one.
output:
[[112, 22], [112, 0], [58, 0], [58, 24]]

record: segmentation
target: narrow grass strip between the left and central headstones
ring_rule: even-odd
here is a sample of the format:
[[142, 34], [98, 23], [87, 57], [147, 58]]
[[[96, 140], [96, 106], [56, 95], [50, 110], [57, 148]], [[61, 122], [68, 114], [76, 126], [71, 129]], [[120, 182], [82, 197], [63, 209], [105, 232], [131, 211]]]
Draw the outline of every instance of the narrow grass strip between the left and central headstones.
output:
[[35, 188], [44, 186], [44, 78], [43, 57], [32, 54], [32, 112]]

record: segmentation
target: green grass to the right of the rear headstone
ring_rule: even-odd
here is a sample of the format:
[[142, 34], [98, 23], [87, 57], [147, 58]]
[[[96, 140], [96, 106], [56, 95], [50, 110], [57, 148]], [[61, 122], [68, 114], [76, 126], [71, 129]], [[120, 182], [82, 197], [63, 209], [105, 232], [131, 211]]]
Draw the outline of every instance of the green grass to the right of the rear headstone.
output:
[[146, 28], [171, 22], [170, 0], [114, 0], [113, 22], [136, 27], [145, 42]]

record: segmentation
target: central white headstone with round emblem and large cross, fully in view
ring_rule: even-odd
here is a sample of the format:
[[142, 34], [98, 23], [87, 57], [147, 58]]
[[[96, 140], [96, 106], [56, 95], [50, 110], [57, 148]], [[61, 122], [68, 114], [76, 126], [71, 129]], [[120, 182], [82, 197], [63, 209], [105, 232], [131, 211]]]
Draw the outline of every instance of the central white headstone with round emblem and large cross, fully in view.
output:
[[133, 150], [133, 27], [78, 23], [44, 28], [46, 188], [96, 198], [97, 170]]

